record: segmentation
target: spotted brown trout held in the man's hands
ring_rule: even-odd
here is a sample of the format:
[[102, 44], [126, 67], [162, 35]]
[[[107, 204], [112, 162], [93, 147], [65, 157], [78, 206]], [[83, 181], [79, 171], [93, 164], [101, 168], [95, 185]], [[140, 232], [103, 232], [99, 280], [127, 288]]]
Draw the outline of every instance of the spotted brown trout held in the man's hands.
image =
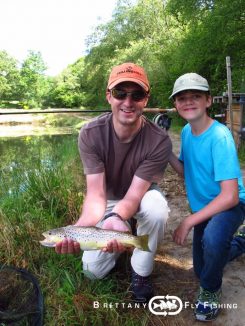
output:
[[150, 251], [148, 235], [134, 236], [130, 233], [104, 230], [97, 227], [68, 225], [43, 233], [45, 237], [40, 243], [45, 247], [55, 247], [63, 239], [72, 239], [80, 244], [81, 250], [98, 250], [106, 247], [108, 241], [116, 239], [125, 247], [135, 247], [143, 251]]

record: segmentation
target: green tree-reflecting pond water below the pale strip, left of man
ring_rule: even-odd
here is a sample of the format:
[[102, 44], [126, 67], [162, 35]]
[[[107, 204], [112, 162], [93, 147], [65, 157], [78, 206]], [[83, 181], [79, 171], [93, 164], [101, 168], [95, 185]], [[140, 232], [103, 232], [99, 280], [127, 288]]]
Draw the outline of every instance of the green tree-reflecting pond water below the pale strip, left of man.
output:
[[78, 159], [77, 132], [42, 136], [0, 137], [0, 195], [25, 191], [28, 173], [55, 169]]

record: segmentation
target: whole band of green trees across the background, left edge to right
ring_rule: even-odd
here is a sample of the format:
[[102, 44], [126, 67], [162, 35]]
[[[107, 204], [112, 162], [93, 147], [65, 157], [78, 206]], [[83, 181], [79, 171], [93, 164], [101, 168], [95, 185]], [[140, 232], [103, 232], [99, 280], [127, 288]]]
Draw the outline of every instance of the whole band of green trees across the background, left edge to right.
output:
[[[56, 77], [45, 76], [40, 52], [19, 66], [0, 52], [2, 106], [105, 108], [112, 66], [142, 65], [151, 82], [151, 107], [171, 106], [175, 79], [205, 76], [213, 95], [226, 91], [226, 56], [234, 92], [245, 92], [245, 2], [243, 0], [118, 0], [112, 19], [87, 37], [87, 54]], [[12, 105], [13, 106], [13, 105]]]

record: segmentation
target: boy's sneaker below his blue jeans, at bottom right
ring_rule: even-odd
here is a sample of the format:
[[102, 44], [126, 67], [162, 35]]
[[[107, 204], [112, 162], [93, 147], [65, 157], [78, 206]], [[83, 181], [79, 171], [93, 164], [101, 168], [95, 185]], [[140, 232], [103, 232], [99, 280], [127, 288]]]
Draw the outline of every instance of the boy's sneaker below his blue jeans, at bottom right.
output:
[[200, 287], [194, 315], [197, 320], [211, 321], [214, 320], [220, 308], [221, 289], [216, 292], [209, 292]]

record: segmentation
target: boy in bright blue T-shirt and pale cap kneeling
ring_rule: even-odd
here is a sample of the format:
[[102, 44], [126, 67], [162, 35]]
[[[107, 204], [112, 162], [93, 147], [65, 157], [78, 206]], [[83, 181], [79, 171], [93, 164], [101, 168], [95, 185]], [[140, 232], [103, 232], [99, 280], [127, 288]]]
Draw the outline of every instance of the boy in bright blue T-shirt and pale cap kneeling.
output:
[[230, 131], [208, 116], [212, 98], [207, 80], [184, 74], [170, 98], [188, 121], [179, 159], [171, 154], [170, 164], [185, 178], [192, 211], [174, 231], [173, 240], [183, 245], [194, 227], [193, 265], [200, 280], [194, 313], [197, 320], [209, 321], [219, 311], [224, 266], [245, 252], [245, 227], [233, 237], [244, 220], [245, 188]]

